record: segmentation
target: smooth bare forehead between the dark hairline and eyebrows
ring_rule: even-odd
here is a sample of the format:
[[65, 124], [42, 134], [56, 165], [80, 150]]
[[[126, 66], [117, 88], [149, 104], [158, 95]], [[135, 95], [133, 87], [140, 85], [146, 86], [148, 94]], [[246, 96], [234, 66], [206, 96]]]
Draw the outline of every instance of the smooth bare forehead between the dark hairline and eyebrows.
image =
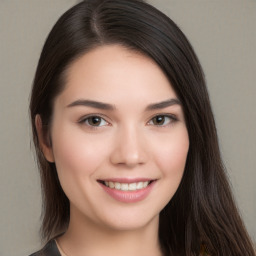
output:
[[151, 103], [176, 95], [152, 59], [120, 45], [107, 45], [84, 54], [69, 67], [60, 97], [66, 104], [79, 98]]

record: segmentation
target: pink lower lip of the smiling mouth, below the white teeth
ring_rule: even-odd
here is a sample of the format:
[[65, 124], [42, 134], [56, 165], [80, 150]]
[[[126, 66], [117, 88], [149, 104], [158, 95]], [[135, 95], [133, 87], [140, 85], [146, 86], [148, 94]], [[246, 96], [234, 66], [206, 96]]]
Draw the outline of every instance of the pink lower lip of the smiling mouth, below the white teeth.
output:
[[123, 203], [135, 203], [135, 202], [142, 201], [148, 196], [154, 184], [155, 184], [155, 181], [151, 182], [146, 188], [143, 188], [143, 189], [139, 189], [135, 191], [123, 191], [123, 190], [109, 188], [103, 185], [102, 183], [100, 183], [101, 187], [104, 189], [105, 192], [107, 192], [108, 195], [110, 195], [115, 200]]

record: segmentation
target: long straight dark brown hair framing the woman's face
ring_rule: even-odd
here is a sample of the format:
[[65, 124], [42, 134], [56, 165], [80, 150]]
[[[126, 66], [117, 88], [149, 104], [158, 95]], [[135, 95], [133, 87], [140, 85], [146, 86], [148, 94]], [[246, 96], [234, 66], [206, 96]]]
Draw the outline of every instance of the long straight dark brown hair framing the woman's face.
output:
[[35, 116], [40, 114], [47, 134], [54, 99], [65, 87], [65, 71], [81, 55], [106, 44], [120, 44], [152, 58], [183, 105], [190, 148], [181, 184], [160, 213], [159, 239], [165, 255], [198, 255], [201, 244], [210, 255], [255, 255], [221, 161], [200, 63], [177, 25], [139, 0], [83, 1], [60, 17], [45, 42], [30, 102], [42, 181], [43, 238], [65, 231], [69, 200], [55, 164], [40, 150]]

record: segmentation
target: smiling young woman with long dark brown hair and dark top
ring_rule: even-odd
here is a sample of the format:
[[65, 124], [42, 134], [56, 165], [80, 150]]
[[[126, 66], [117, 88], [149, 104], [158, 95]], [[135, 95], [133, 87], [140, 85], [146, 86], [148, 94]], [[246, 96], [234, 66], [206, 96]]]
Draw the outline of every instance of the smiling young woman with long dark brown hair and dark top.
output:
[[31, 94], [42, 180], [34, 256], [255, 255], [198, 59], [139, 0], [86, 0], [44, 45]]

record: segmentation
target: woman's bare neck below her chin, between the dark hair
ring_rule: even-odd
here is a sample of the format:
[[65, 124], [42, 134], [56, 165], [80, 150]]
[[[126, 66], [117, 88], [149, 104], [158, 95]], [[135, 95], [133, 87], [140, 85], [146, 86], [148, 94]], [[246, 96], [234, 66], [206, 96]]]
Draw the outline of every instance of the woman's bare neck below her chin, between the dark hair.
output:
[[67, 256], [161, 256], [156, 216], [146, 226], [118, 230], [71, 211], [70, 224], [58, 243]]

